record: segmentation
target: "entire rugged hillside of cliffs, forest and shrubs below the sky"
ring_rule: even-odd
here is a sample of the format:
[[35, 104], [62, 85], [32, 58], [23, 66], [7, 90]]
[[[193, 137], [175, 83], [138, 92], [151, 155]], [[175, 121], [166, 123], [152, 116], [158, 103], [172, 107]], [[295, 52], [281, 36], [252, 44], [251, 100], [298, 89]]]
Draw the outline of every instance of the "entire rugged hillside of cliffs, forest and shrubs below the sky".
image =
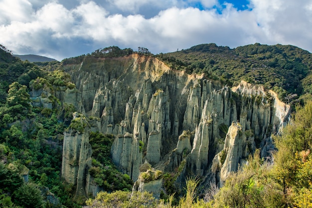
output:
[[112, 46], [37, 65], [0, 55], [0, 206], [79, 207], [97, 196], [87, 205], [153, 207], [174, 194], [167, 207], [182, 208], [190, 178], [186, 199], [202, 207], [298, 206], [312, 192], [312, 104], [283, 130], [290, 104], [311, 97], [307, 51]]

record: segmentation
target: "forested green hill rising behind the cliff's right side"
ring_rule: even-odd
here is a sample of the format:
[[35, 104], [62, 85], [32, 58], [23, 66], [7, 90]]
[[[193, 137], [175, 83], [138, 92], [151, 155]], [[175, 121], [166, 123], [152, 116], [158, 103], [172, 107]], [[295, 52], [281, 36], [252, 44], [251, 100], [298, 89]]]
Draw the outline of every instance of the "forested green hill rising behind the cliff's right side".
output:
[[259, 43], [230, 49], [214, 43], [193, 46], [158, 58], [187, 73], [205, 73], [208, 78], [232, 86], [241, 80], [264, 85], [280, 95], [312, 93], [312, 54], [292, 45]]

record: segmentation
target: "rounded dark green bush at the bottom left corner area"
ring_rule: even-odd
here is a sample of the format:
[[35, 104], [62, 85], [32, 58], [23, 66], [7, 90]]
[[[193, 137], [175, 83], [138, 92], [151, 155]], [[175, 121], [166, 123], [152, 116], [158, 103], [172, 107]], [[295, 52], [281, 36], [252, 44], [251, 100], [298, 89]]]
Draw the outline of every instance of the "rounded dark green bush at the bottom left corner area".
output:
[[25, 208], [42, 208], [43, 198], [35, 184], [22, 185], [14, 192], [14, 203]]

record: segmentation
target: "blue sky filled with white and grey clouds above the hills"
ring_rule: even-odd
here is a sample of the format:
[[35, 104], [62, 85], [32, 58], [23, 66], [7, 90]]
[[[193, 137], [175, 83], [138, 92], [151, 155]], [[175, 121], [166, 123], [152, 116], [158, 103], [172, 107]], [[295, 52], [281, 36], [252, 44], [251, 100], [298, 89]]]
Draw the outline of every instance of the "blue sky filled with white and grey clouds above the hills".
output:
[[312, 0], [0, 0], [0, 44], [13, 54], [61, 61], [109, 46], [157, 54], [203, 43], [312, 52]]

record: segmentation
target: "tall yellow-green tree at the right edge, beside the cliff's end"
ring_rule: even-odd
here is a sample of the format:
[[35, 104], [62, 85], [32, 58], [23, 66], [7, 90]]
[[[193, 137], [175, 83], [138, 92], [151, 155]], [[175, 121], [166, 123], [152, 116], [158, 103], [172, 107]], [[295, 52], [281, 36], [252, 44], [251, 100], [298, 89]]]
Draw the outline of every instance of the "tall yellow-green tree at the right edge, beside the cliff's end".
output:
[[[274, 138], [278, 151], [273, 155], [270, 178], [280, 185], [289, 204], [305, 205], [312, 201], [312, 102], [297, 108], [291, 124]], [[304, 192], [302, 190], [305, 190]], [[309, 198], [307, 198], [309, 197]]]

